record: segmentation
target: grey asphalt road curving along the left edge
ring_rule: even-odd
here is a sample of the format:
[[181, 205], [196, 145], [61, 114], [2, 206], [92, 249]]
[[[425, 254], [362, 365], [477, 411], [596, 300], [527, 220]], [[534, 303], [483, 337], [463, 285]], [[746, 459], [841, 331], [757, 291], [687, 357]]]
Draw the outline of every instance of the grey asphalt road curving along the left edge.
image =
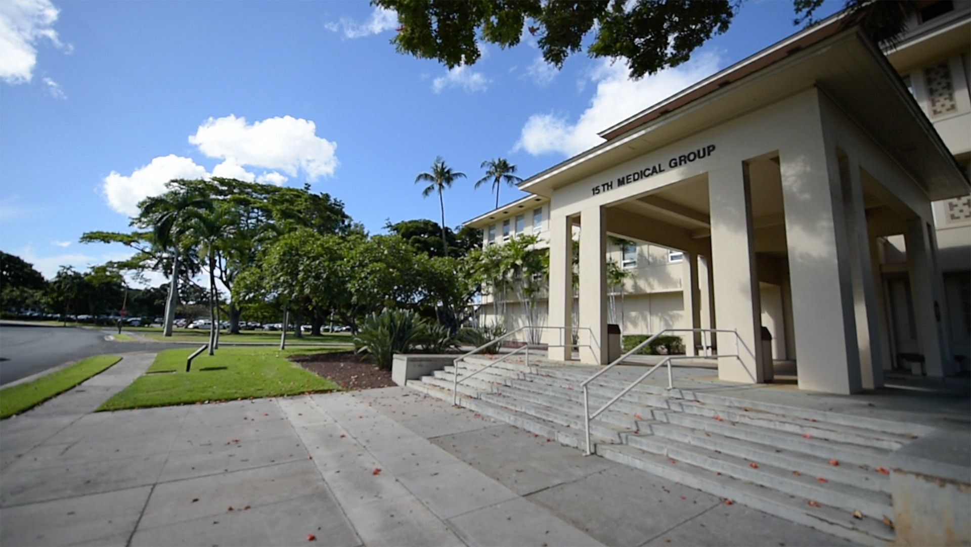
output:
[[96, 329], [0, 323], [0, 385], [51, 367], [104, 353], [179, 347], [159, 342], [108, 341]]

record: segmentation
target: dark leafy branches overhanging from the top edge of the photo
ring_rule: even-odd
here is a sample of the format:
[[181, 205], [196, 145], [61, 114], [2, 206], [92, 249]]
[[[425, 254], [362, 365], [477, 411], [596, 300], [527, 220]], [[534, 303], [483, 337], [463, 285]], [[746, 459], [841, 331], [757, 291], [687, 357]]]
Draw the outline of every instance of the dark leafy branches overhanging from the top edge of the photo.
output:
[[[586, 45], [592, 57], [624, 60], [639, 79], [684, 63], [728, 30], [742, 0], [372, 0], [398, 14], [391, 43], [400, 53], [436, 59], [450, 69], [472, 65], [479, 42], [510, 48], [523, 30], [546, 62], [562, 68]], [[823, 0], [793, 0], [793, 24], [812, 24]], [[913, 1], [846, 0], [846, 25], [860, 24], [877, 42], [893, 42], [916, 9]]]

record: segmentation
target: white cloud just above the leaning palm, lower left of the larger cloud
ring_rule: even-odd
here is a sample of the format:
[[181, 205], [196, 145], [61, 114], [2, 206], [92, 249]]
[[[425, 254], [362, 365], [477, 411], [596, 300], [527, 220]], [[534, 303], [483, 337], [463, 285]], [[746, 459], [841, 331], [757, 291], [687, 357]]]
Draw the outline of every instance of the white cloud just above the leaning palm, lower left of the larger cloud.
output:
[[191, 159], [169, 154], [156, 157], [149, 165], [136, 169], [127, 177], [113, 171], [105, 177], [103, 190], [109, 207], [134, 216], [138, 214], [138, 202], [165, 192], [165, 183], [169, 180], [208, 176], [206, 169]]

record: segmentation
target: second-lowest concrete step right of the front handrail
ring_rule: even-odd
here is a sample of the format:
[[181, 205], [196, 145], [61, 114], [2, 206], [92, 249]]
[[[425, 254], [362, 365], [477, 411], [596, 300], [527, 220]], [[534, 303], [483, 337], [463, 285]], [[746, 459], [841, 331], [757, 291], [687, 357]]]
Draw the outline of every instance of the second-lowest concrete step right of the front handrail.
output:
[[[719, 451], [682, 443], [670, 438], [653, 435], [631, 434], [627, 444], [661, 456], [686, 462], [692, 466], [712, 472], [747, 480], [766, 488], [787, 492], [793, 496], [815, 499], [820, 503], [845, 509], [852, 513], [859, 510], [864, 514], [892, 514], [890, 497], [886, 494], [863, 490], [841, 482], [820, 482], [817, 477], [800, 474], [792, 470], [776, 467], [758, 461], [737, 458]], [[755, 467], [752, 467], [752, 466]]]

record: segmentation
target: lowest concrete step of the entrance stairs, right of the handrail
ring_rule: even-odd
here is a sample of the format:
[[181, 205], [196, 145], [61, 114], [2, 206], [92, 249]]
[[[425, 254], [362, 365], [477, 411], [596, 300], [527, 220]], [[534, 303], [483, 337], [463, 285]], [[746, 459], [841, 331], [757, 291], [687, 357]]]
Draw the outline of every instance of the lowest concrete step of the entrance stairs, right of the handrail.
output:
[[[845, 537], [851, 541], [872, 544], [876, 538], [892, 542], [894, 533], [884, 523], [885, 515], [863, 514], [855, 519], [851, 511], [820, 503], [809, 504], [809, 499], [789, 496], [779, 491], [715, 473], [685, 462], [671, 463], [668, 457], [651, 454], [633, 446], [619, 444], [597, 445], [597, 454], [631, 467], [680, 482], [724, 499], [731, 499], [771, 515]], [[814, 500], [815, 501], [815, 500]], [[887, 514], [887, 517], [892, 515]]]

